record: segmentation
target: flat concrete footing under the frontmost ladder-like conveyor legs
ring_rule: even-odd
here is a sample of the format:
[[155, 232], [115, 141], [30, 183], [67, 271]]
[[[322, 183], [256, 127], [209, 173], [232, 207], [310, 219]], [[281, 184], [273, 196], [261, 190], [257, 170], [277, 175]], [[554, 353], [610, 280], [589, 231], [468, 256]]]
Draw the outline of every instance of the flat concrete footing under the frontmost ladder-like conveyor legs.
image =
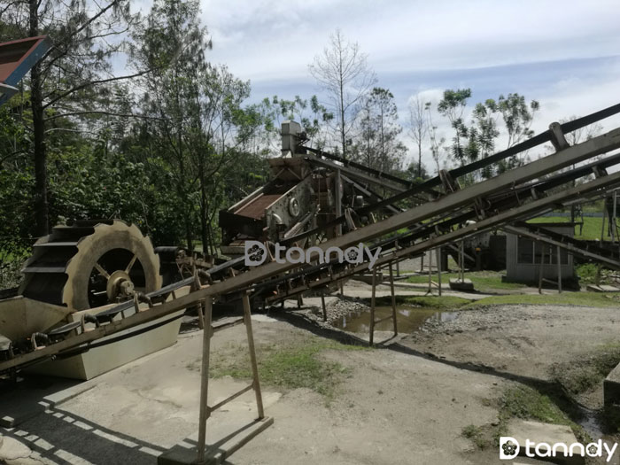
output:
[[159, 455], [158, 465], [220, 464], [272, 424], [274, 424], [274, 419], [268, 416], [240, 426], [236, 426], [232, 422], [220, 423], [216, 425], [216, 430], [213, 430], [211, 425], [207, 423], [209, 438], [206, 441], [205, 461], [198, 461], [197, 459], [197, 431], [190, 438], [183, 439], [182, 442]]

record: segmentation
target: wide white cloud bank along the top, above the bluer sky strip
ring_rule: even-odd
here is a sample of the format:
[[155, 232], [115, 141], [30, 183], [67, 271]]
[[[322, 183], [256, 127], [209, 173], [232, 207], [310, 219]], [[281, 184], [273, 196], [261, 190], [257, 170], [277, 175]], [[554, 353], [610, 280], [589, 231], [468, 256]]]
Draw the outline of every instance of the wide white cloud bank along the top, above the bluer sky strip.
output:
[[336, 27], [381, 73], [615, 54], [616, 1], [203, 0], [213, 58], [252, 80], [301, 76]]

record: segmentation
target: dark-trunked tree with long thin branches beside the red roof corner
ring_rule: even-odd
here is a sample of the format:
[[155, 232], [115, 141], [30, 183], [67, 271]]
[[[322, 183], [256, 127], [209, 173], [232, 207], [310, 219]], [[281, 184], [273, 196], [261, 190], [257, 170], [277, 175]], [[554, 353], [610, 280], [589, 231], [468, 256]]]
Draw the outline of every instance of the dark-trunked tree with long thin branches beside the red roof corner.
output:
[[[33, 66], [29, 90], [32, 120], [31, 152], [35, 167], [35, 234], [47, 234], [50, 217], [48, 201], [47, 155], [49, 130], [58, 118], [77, 119], [100, 111], [97, 102], [114, 81], [128, 80], [134, 74], [115, 74], [112, 58], [123, 55], [125, 35], [138, 21], [128, 0], [71, 3], [58, 0], [12, 2], [3, 10], [0, 37], [49, 35], [52, 49]], [[25, 121], [26, 122], [26, 121]], [[71, 130], [81, 130], [77, 127]]]

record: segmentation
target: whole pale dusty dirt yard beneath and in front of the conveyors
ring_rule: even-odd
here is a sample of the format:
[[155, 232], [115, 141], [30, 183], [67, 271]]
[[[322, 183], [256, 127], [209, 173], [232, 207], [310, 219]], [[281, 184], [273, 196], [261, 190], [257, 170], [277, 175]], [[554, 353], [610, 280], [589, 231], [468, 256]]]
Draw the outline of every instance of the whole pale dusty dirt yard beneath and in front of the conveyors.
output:
[[[367, 291], [356, 283], [345, 294], [367, 297]], [[616, 343], [620, 329], [618, 308], [494, 306], [428, 322], [368, 349], [339, 342], [365, 335], [347, 338], [313, 322], [308, 315], [320, 314], [318, 306], [320, 298], [306, 298], [301, 310], [254, 315], [266, 415], [275, 422], [228, 463], [501, 463], [496, 448], [481, 450], [463, 431], [497, 425], [508, 388], [549, 381], [554, 366]], [[22, 445], [5, 462], [155, 463], [198, 430], [201, 339], [189, 326], [173, 347], [99, 376], [73, 399], [0, 430], [5, 443]], [[331, 369], [317, 388], [287, 385], [265, 371], [279, 367], [269, 364], [278, 354], [307, 347], [317, 347], [313, 356]], [[215, 333], [212, 355], [213, 405], [246, 384], [244, 326]], [[593, 389], [589, 407], [599, 406], [597, 396]], [[219, 422], [251, 420], [255, 412], [250, 391], [213, 414], [207, 438]]]

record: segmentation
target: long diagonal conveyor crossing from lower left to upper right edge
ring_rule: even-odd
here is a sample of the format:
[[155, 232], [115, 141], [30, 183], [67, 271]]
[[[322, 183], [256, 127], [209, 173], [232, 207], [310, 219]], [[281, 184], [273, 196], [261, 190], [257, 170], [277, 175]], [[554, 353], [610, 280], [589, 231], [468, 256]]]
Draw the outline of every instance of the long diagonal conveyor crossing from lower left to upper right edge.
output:
[[[620, 112], [620, 105], [610, 107], [602, 113], [607, 114], [608, 112]], [[599, 112], [599, 114], [602, 113]], [[592, 115], [579, 120], [578, 124], [582, 124], [585, 120], [592, 122]], [[571, 123], [571, 127], [578, 127], [578, 125], [575, 126], [575, 121], [571, 121]], [[547, 133], [536, 136], [526, 143], [518, 144], [508, 151], [493, 155], [489, 159], [497, 161], [506, 158], [519, 151], [551, 140], [551, 138], [552, 133], [547, 131]], [[478, 182], [462, 190], [446, 193], [445, 196], [431, 202], [415, 206], [402, 213], [396, 213], [383, 221], [353, 230], [344, 236], [333, 238], [320, 244], [320, 247], [322, 250], [326, 250], [329, 247], [345, 249], [360, 242], [372, 244], [375, 241], [375, 246], [383, 244], [385, 247], [384, 254], [377, 260], [377, 266], [382, 266], [390, 261], [399, 260], [411, 254], [422, 253], [439, 245], [478, 234], [484, 230], [508, 225], [515, 220], [527, 218], [529, 215], [539, 213], [568, 200], [601, 198], [606, 195], [608, 190], [620, 186], [620, 173], [603, 175], [594, 181], [585, 182], [548, 196], [545, 195], [545, 191], [549, 190], [549, 186], [554, 182], [565, 183], [571, 176], [583, 175], [585, 171], [582, 168], [578, 168], [577, 170], [569, 170], [571, 174], [552, 176], [547, 181], [540, 180], [544, 179], [546, 174], [553, 174], [563, 168], [574, 166], [577, 163], [592, 159], [595, 156], [617, 148], [620, 148], [620, 128], [609, 131], [602, 136], [594, 137], [584, 143], [565, 148], [554, 153], [554, 155], [538, 159], [523, 167], [517, 167], [484, 182]], [[488, 161], [489, 159], [486, 160]], [[476, 162], [468, 167], [457, 168], [451, 173], [453, 177], [471, 173], [480, 167], [484, 167], [485, 164], [488, 163], [486, 161]], [[438, 186], [440, 180], [437, 178], [423, 184], [425, 185], [407, 190], [403, 193], [407, 194], [404, 197], [399, 197], [403, 196], [403, 194], [399, 194], [398, 196], [384, 199], [384, 201], [378, 202], [376, 205], [383, 203], [385, 205], [393, 204], [395, 201], [398, 201], [398, 198], [410, 196], [414, 190], [422, 192], [428, 187]], [[562, 185], [562, 183], [559, 185]], [[527, 186], [527, 189], [525, 190], [519, 186]], [[526, 191], [529, 191], [531, 195], [525, 195]], [[368, 208], [368, 211], [370, 211], [376, 205], [365, 208]], [[482, 210], [481, 205], [484, 207]], [[358, 213], [362, 211], [364, 209], [360, 209]], [[465, 218], [471, 214], [478, 215], [476, 223], [458, 229], [453, 228], [454, 224], [452, 221], [454, 221], [454, 218]], [[405, 233], [405, 235], [385, 238], [388, 234], [393, 234], [403, 228], [411, 230]], [[434, 236], [431, 236], [431, 233]], [[419, 239], [422, 240], [419, 241]], [[292, 238], [292, 240], [298, 240], [298, 236]], [[223, 264], [219, 268], [223, 270], [226, 267], [227, 264]], [[312, 287], [337, 281], [347, 275], [359, 273], [365, 268], [368, 269], [366, 263], [357, 266], [329, 263], [318, 267], [300, 267], [299, 264], [294, 263], [270, 262], [232, 277], [225, 277], [224, 274], [220, 273], [220, 276], [215, 276], [216, 279], [220, 279], [219, 282], [214, 281], [211, 285], [203, 286], [197, 291], [191, 291], [180, 298], [174, 298], [162, 303], [155, 302], [150, 308], [144, 309], [139, 313], [112, 320], [112, 322], [102, 322], [99, 326], [89, 331], [80, 332], [81, 329], [79, 327], [73, 328], [72, 330], [77, 331], [79, 334], [66, 337], [65, 340], [55, 344], [40, 347], [35, 352], [22, 353], [11, 360], [0, 362], [0, 372], [19, 367], [24, 363], [31, 363], [34, 360], [50, 357], [53, 354], [66, 353], [70, 349], [89, 344], [98, 338], [106, 337], [146, 322], [153, 322], [188, 306], [194, 306], [205, 298], [216, 298], [217, 296], [246, 290], [260, 293], [270, 292], [272, 294], [271, 299], [285, 298], [293, 295], [295, 292], [302, 292]], [[214, 275], [217, 275], [217, 273], [213, 273], [212, 277]], [[175, 283], [174, 286], [181, 286], [183, 283], [188, 285], [190, 282], [193, 282], [193, 278], [188, 278], [188, 280], [184, 280], [181, 283]], [[167, 288], [159, 292], [172, 290], [172, 288]], [[151, 298], [155, 297], [154, 294], [151, 293], [149, 296]], [[120, 304], [120, 306], [114, 306], [102, 314], [97, 314], [97, 321], [104, 320], [104, 318], [100, 317], [109, 316], [113, 313], [118, 314], [123, 308], [129, 308], [132, 305], [133, 303], [125, 303]]]

